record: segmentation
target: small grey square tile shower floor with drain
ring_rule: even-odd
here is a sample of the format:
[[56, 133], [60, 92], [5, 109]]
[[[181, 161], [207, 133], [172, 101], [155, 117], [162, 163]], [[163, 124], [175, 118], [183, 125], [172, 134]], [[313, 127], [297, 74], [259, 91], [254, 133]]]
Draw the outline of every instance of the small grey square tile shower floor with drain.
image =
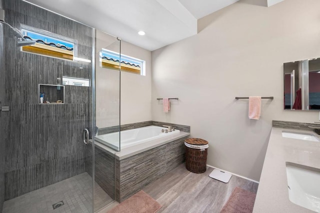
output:
[[[87, 213], [92, 209], [92, 178], [81, 173], [60, 182], [39, 188], [21, 196], [6, 200], [3, 213], [46, 213], [76, 212]], [[110, 203], [112, 198], [97, 184], [94, 184], [94, 211]], [[63, 205], [53, 209], [52, 204], [63, 201]]]

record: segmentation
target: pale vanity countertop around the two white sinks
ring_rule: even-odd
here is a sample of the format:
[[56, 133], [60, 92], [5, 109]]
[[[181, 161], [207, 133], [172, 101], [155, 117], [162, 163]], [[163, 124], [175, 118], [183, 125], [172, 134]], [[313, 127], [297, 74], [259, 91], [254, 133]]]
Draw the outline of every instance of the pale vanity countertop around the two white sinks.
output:
[[282, 137], [282, 131], [319, 137], [313, 131], [272, 127], [253, 212], [314, 212], [289, 200], [285, 162], [320, 168], [320, 142]]

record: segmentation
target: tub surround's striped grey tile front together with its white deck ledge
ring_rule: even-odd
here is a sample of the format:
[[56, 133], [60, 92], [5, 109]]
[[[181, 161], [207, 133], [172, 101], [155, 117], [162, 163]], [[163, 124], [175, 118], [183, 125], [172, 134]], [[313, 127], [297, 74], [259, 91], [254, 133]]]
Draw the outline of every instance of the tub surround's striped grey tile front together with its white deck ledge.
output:
[[[123, 201], [182, 163], [185, 159], [184, 140], [189, 134], [180, 131], [175, 135], [123, 148], [119, 152], [95, 141], [95, 149], [115, 157], [116, 201]], [[95, 175], [98, 178], [98, 174]], [[101, 180], [104, 181], [103, 178]], [[103, 188], [104, 184], [99, 184]]]

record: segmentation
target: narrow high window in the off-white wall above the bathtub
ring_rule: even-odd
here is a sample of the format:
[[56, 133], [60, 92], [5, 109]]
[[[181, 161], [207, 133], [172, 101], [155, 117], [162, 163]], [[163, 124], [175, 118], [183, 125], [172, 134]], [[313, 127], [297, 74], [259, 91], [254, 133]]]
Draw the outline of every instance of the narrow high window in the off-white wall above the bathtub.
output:
[[[100, 51], [100, 66], [111, 69], [119, 69], [119, 53], [102, 49]], [[145, 61], [121, 54], [121, 71], [145, 75]]]

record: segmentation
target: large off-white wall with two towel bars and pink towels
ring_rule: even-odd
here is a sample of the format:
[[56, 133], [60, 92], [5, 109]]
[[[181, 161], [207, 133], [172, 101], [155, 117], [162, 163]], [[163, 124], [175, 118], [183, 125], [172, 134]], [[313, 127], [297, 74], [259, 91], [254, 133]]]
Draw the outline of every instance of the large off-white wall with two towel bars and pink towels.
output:
[[[207, 164], [259, 180], [272, 120], [313, 122], [283, 110], [283, 62], [320, 56], [320, 1], [271, 7], [240, 0], [198, 20], [197, 35], [152, 51], [152, 120], [191, 126], [209, 141]], [[262, 99], [259, 120], [248, 100]], [[162, 111], [157, 97], [178, 97]]]

